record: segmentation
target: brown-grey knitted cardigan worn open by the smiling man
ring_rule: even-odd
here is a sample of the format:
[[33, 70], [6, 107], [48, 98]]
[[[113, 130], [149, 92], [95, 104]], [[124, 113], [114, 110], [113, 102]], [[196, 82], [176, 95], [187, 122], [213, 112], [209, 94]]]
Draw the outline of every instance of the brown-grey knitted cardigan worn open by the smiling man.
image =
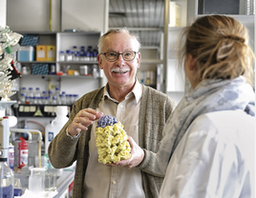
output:
[[[67, 124], [60, 130], [49, 146], [49, 157], [54, 168], [66, 168], [76, 160], [73, 198], [83, 194], [84, 176], [89, 156], [89, 140], [92, 127], [81, 131], [79, 138], [66, 135], [66, 129], [80, 109], [96, 109], [103, 96], [103, 89], [86, 93], [73, 106]], [[175, 108], [175, 102], [166, 94], [143, 86], [139, 109], [139, 147], [144, 149], [145, 157], [140, 163], [143, 189], [146, 198], [159, 197], [164, 173], [160, 170], [156, 153], [160, 147], [162, 129]]]

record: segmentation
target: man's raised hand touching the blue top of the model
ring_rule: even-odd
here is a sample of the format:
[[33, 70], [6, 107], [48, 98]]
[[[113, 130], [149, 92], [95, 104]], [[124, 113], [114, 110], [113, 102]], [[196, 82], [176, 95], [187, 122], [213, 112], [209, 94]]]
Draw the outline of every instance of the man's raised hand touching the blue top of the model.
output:
[[81, 109], [75, 115], [72, 124], [69, 126], [69, 134], [74, 137], [81, 130], [88, 130], [88, 127], [93, 125], [94, 121], [102, 116], [103, 112], [97, 112], [95, 109]]

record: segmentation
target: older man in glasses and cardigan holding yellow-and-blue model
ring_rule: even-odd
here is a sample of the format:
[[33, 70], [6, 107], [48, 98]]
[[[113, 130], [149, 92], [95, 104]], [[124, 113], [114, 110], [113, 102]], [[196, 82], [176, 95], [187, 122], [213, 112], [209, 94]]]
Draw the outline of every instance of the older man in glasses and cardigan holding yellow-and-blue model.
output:
[[[158, 197], [164, 173], [156, 152], [174, 101], [139, 84], [139, 39], [126, 29], [109, 30], [98, 42], [98, 66], [108, 79], [105, 87], [75, 102], [69, 121], [53, 139], [49, 156], [54, 168], [76, 161], [74, 198]], [[97, 161], [96, 120], [117, 117], [132, 148], [131, 158], [116, 164]]]

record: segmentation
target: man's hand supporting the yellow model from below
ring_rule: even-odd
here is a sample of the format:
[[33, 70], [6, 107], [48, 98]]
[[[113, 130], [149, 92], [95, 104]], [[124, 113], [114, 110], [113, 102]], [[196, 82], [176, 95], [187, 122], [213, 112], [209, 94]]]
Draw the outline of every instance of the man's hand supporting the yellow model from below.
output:
[[144, 150], [139, 147], [139, 145], [134, 141], [134, 139], [131, 136], [128, 136], [128, 141], [130, 143], [132, 152], [131, 157], [126, 160], [121, 160], [117, 162], [116, 164], [109, 164], [107, 166], [109, 167], [125, 167], [125, 168], [135, 168], [137, 167], [142, 160], [144, 159]]

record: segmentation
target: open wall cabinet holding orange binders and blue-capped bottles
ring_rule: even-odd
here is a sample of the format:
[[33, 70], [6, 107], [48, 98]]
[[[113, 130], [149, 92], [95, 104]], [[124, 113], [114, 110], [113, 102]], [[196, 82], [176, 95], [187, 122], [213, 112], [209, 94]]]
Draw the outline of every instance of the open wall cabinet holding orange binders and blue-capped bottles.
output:
[[[32, 65], [34, 64], [49, 65], [48, 73], [45, 73], [45, 72], [32, 73], [32, 68], [31, 68], [31, 69], [28, 69], [28, 70], [31, 70], [31, 72], [26, 72], [27, 71], [26, 70], [25, 73], [23, 73], [23, 75], [55, 74], [58, 76], [62, 76], [63, 74], [64, 75], [68, 74], [68, 72], [66, 72], [68, 71], [68, 69], [64, 69], [62, 67], [69, 66], [69, 69], [71, 68], [79, 71], [79, 66], [82, 66], [82, 65], [88, 65], [88, 69], [89, 69], [88, 74], [90, 73], [92, 74], [92, 70], [93, 70], [92, 66], [97, 64], [96, 45], [101, 35], [101, 32], [83, 31], [83, 32], [19, 32], [19, 33], [23, 34], [24, 36], [21, 39], [21, 44], [20, 44], [21, 47], [23, 47], [23, 45], [25, 46], [32, 45], [34, 56], [32, 60], [19, 61], [19, 51], [18, 51], [17, 61], [21, 63], [23, 66], [28, 66], [28, 67], [30, 66], [32, 67]], [[24, 41], [25, 39], [26, 41]], [[37, 42], [32, 43], [32, 40], [36, 40]], [[54, 55], [52, 60], [48, 60], [48, 53], [50, 52], [50, 50], [37, 49], [37, 46], [40, 46], [40, 47], [53, 46]], [[85, 54], [79, 53], [78, 55], [78, 52], [80, 52], [81, 49], [85, 52]], [[69, 50], [70, 52], [69, 55], [67, 54], [67, 50]], [[90, 51], [90, 53], [88, 51]], [[60, 56], [60, 54], [64, 55], [63, 58], [62, 56]], [[67, 59], [67, 55], [68, 55], [68, 59]], [[55, 67], [54, 69], [51, 68], [52, 65], [54, 65]], [[21, 72], [22, 71], [23, 70], [21, 69]], [[64, 73], [62, 73], [61, 71]], [[70, 74], [74, 75], [74, 73], [72, 72]], [[79, 72], [75, 73], [75, 75], [78, 75], [78, 74], [80, 73]]]

